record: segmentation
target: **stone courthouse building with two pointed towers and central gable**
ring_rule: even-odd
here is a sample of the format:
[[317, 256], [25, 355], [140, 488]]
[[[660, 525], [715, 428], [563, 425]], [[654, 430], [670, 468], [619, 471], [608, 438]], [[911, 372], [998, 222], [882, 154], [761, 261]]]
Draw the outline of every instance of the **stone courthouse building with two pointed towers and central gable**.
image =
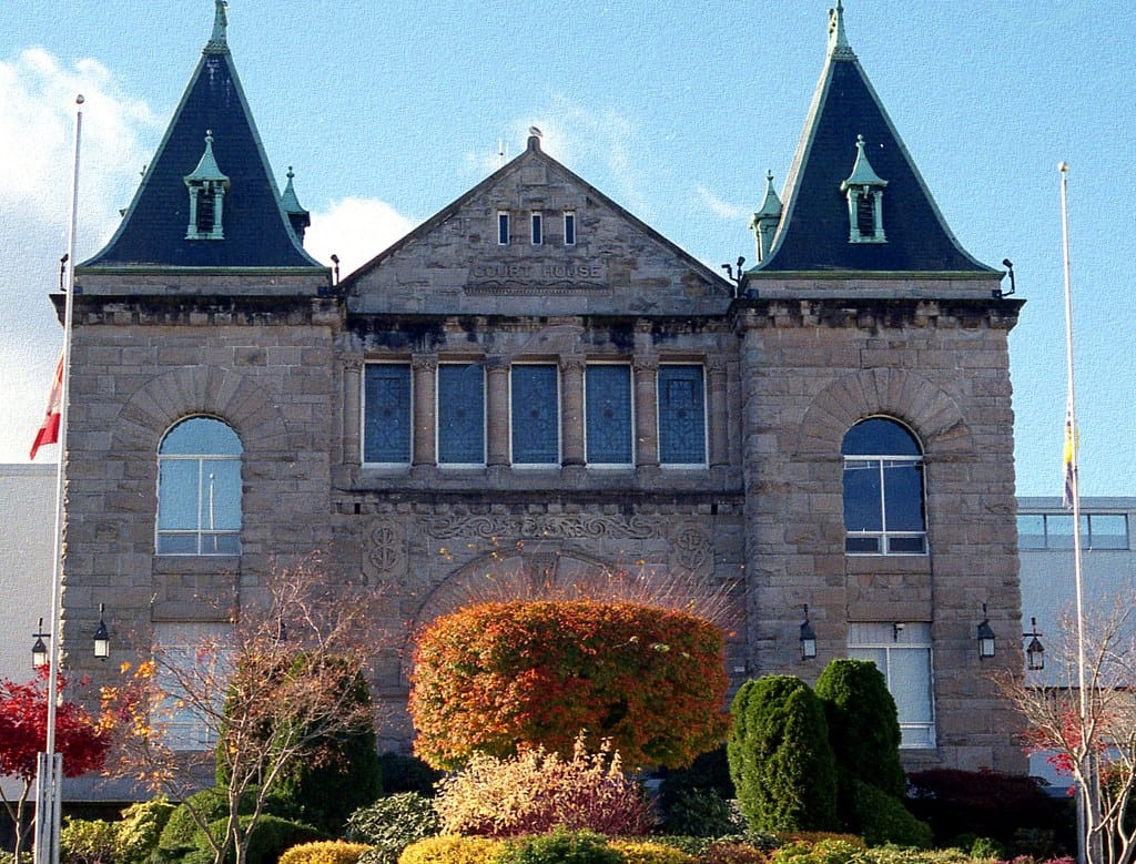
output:
[[909, 767], [1025, 767], [988, 681], [1021, 662], [1020, 302], [954, 238], [840, 3], [740, 279], [533, 131], [337, 280], [304, 252], [226, 27], [218, 3], [117, 233], [75, 271], [68, 638], [105, 603], [116, 651], [183, 644], [318, 551], [384, 598], [375, 693], [406, 747], [401, 648], [486, 576], [695, 579], [735, 603], [735, 686], [868, 657]]

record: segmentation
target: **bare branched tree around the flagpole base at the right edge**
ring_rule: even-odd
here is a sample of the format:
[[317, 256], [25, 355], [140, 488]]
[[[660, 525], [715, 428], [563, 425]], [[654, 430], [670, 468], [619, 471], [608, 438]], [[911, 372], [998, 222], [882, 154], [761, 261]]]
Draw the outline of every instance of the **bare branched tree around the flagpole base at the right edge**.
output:
[[[1077, 621], [1066, 615], [1045, 651], [1047, 668], [1000, 683], [1026, 721], [1025, 740], [1067, 774], [1086, 814], [1088, 864], [1130, 864], [1136, 821], [1125, 817], [1136, 790], [1136, 612], [1119, 598], [1085, 621], [1084, 705]], [[1042, 678], [1044, 676], [1044, 678]]]

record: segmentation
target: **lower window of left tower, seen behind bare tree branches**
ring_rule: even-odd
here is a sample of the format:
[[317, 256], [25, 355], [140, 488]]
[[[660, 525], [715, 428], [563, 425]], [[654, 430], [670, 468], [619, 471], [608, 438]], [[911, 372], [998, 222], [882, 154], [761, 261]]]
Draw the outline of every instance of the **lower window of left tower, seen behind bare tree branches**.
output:
[[232, 671], [232, 626], [219, 623], [153, 626], [158, 693], [150, 722], [172, 750], [207, 750], [217, 744], [219, 703]]

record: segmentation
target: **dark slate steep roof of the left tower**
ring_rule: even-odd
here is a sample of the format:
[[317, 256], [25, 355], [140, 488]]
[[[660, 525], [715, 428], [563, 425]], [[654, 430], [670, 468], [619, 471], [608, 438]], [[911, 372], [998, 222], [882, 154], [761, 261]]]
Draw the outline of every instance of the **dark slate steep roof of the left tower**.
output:
[[[232, 185], [224, 240], [186, 240], [184, 177], [212, 151]], [[85, 267], [321, 267], [300, 245], [282, 207], [260, 135], [224, 40], [209, 42], [115, 236]]]

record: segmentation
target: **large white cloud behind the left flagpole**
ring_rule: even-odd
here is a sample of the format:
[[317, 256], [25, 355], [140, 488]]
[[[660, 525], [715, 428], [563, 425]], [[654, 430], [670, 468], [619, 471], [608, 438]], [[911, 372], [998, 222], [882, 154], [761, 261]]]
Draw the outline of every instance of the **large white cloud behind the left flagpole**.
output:
[[[6, 419], [0, 462], [27, 459], [43, 419], [61, 328], [48, 295], [58, 290], [67, 249], [74, 169], [75, 97], [82, 93], [83, 140], [76, 258], [94, 254], [114, 233], [161, 133], [149, 107], [120, 91], [106, 67], [72, 67], [42, 49], [0, 60], [0, 370]], [[55, 447], [40, 459], [55, 459]]]

